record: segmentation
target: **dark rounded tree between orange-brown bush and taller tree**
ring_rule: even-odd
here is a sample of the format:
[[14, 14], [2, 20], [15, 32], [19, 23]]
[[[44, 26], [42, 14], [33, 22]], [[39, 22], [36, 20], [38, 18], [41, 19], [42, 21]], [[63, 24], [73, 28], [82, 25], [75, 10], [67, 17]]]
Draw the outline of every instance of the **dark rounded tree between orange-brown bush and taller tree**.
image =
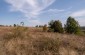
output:
[[51, 30], [53, 30], [54, 32], [59, 32], [59, 33], [63, 33], [63, 27], [62, 27], [62, 23], [59, 20], [55, 20], [55, 21], [51, 21], [49, 23], [49, 28]]

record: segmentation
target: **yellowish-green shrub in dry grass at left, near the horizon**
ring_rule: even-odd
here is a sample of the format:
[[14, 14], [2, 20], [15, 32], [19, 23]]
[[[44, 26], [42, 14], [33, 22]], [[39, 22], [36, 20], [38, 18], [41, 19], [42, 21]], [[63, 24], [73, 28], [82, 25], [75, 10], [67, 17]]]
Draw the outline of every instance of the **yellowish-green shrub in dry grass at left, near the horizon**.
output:
[[11, 37], [11, 38], [17, 38], [17, 37], [24, 37], [25, 36], [25, 33], [26, 31], [28, 30], [27, 27], [14, 27], [12, 30], [11, 30], [11, 33], [7, 34], [8, 37]]

